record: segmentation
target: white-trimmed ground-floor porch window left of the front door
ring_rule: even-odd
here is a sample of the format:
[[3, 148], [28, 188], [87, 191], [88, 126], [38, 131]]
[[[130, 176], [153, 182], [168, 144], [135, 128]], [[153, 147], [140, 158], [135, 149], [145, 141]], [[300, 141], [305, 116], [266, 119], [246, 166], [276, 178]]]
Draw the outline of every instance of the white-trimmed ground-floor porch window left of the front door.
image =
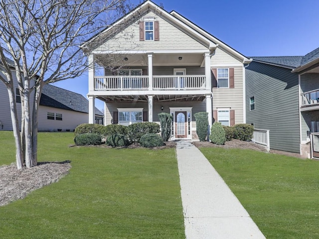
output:
[[132, 123], [143, 122], [143, 108], [121, 108], [119, 112], [119, 124], [130, 125]]

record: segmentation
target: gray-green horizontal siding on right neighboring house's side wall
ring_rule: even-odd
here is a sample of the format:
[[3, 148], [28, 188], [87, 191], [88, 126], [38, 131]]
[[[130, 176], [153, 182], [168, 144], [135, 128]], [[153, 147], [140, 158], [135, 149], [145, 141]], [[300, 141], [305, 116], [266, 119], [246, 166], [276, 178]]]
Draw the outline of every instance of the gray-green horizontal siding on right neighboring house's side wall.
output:
[[[255, 96], [255, 110], [249, 99]], [[298, 75], [252, 62], [246, 68], [246, 122], [270, 130], [270, 148], [300, 152]]]

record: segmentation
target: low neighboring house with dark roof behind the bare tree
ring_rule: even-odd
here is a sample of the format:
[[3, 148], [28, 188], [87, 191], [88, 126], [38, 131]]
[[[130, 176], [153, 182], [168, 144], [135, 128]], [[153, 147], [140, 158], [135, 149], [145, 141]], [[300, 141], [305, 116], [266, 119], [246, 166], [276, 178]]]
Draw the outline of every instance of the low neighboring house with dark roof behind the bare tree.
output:
[[[15, 101], [20, 121], [21, 100], [17, 81], [14, 82], [14, 86], [16, 87]], [[12, 130], [9, 97], [2, 83], [0, 83], [0, 101], [0, 130]], [[38, 130], [73, 131], [77, 125], [88, 123], [88, 108], [88, 100], [82, 95], [52, 85], [45, 85], [40, 99]], [[94, 122], [103, 124], [103, 113], [96, 108]]]

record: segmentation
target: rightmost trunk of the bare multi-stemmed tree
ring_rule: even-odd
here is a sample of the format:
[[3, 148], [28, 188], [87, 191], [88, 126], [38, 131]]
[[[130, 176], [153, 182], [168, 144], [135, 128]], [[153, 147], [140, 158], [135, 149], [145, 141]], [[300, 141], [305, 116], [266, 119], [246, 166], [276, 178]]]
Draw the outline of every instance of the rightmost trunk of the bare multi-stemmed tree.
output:
[[33, 111], [32, 111], [32, 156], [33, 165], [37, 165], [37, 149], [38, 149], [38, 111], [40, 105], [40, 98], [43, 88], [43, 82], [35, 88]]

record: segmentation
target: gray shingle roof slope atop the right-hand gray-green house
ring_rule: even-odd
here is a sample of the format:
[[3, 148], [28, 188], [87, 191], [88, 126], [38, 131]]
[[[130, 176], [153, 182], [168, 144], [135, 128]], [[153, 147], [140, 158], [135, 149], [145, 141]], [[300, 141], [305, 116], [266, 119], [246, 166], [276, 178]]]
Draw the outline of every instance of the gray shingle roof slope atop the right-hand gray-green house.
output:
[[253, 60], [272, 63], [280, 66], [297, 68], [300, 66], [303, 56], [258, 56], [251, 57]]

